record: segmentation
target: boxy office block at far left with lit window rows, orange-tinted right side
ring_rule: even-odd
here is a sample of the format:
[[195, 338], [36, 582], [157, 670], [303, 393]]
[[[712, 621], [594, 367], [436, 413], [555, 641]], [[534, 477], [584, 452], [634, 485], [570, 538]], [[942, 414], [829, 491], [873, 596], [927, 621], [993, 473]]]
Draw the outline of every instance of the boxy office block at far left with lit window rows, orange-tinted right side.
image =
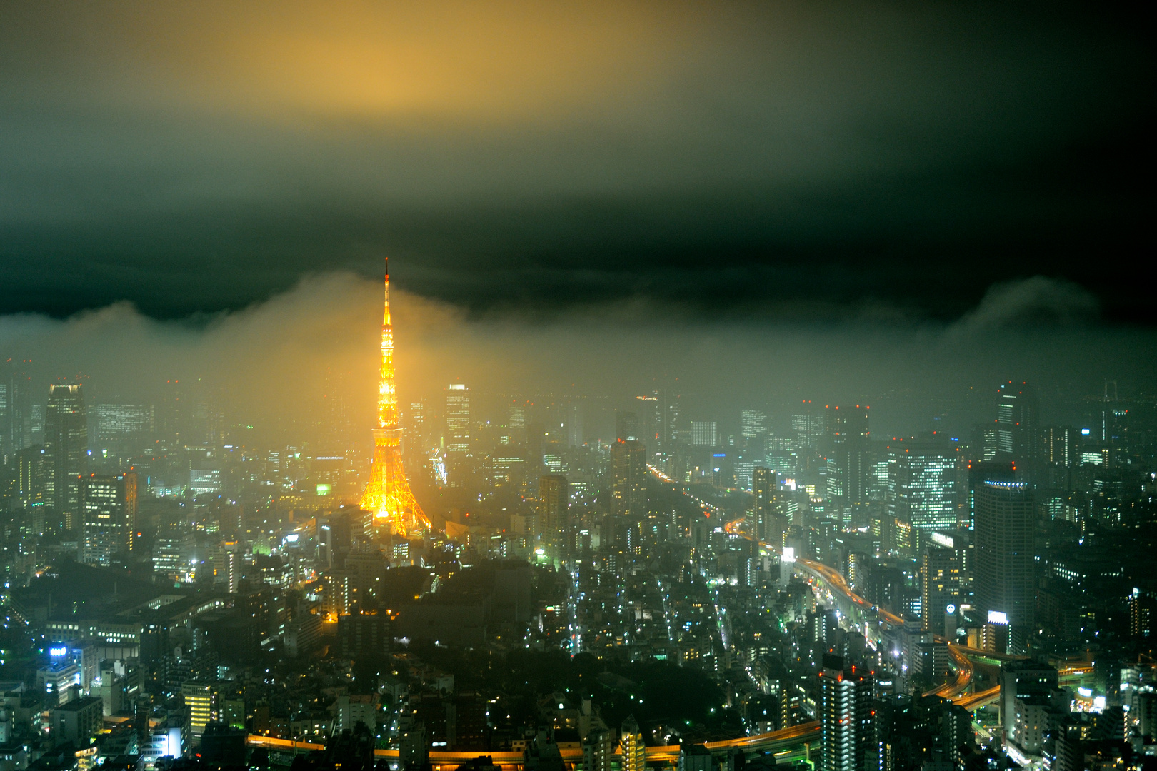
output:
[[133, 548], [137, 474], [88, 474], [80, 480], [80, 561], [108, 565]]

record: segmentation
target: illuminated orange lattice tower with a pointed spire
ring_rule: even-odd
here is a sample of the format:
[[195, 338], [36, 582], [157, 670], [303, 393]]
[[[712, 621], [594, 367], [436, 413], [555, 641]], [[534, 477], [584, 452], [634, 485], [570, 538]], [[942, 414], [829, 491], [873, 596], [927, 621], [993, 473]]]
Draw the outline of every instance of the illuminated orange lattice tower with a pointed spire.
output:
[[374, 512], [376, 522], [389, 522], [390, 532], [397, 535], [418, 535], [430, 527], [430, 520], [414, 499], [401, 467], [401, 428], [398, 425], [398, 395], [393, 386], [389, 258], [385, 260], [385, 313], [382, 317], [382, 372], [377, 388], [377, 428], [374, 429], [374, 467], [361, 505]]

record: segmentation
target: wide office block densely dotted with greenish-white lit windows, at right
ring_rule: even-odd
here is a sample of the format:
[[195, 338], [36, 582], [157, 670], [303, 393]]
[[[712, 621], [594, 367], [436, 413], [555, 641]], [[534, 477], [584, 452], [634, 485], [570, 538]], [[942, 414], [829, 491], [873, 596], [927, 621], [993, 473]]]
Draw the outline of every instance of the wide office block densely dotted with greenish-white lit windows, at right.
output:
[[887, 453], [889, 519], [914, 529], [953, 529], [961, 504], [960, 447], [937, 439], [893, 439]]

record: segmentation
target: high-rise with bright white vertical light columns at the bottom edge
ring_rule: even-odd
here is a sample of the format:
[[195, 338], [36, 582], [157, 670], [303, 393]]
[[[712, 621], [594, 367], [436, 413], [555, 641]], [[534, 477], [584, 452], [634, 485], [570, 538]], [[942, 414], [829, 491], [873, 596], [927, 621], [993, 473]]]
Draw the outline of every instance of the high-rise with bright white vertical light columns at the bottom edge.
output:
[[845, 667], [841, 657], [824, 655], [819, 683], [819, 771], [879, 769], [871, 675]]

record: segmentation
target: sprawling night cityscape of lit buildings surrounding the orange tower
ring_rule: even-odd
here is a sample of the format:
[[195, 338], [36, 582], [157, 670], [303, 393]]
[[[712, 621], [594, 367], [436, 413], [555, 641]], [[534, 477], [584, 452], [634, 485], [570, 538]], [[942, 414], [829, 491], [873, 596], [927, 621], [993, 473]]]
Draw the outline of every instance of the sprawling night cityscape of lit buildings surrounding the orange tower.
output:
[[14, 771], [1157, 763], [1157, 423], [1111, 386], [884, 437], [863, 403], [456, 383], [379, 403], [373, 479], [429, 518], [399, 529], [346, 418], [259, 446], [178, 383], [0, 383]]

